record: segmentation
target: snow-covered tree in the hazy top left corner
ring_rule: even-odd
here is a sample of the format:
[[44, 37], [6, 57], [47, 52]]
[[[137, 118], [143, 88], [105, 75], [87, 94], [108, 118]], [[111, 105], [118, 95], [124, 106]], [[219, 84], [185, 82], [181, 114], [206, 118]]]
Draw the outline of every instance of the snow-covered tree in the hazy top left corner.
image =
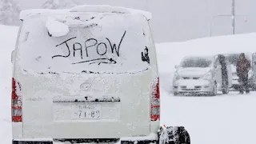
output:
[[13, 0], [0, 0], [0, 23], [18, 26], [20, 11]]

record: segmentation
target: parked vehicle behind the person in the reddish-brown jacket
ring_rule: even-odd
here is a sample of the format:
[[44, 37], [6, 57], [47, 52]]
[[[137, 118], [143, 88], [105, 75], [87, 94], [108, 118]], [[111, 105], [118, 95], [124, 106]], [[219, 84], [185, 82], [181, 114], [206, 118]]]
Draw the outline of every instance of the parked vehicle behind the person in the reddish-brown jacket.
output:
[[[232, 88], [234, 90], [238, 90], [239, 88], [239, 82], [238, 82], [238, 74], [236, 70], [237, 62], [239, 60], [239, 55], [241, 53], [233, 53], [233, 54], [224, 54], [226, 56], [226, 59], [230, 62], [231, 70], [232, 70]], [[248, 82], [250, 89], [256, 90], [256, 54], [252, 53], [246, 53], [246, 59], [250, 61], [250, 65], [252, 66], [249, 74], [248, 74]]]

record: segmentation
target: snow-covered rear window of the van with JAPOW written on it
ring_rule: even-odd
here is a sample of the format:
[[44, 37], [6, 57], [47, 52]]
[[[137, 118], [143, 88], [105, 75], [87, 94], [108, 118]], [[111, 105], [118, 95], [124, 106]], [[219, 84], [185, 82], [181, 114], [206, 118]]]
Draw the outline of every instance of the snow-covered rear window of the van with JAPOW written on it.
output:
[[37, 73], [138, 73], [150, 69], [150, 28], [138, 14], [56, 17], [68, 34], [51, 36], [49, 16], [27, 18], [18, 42], [19, 66]]

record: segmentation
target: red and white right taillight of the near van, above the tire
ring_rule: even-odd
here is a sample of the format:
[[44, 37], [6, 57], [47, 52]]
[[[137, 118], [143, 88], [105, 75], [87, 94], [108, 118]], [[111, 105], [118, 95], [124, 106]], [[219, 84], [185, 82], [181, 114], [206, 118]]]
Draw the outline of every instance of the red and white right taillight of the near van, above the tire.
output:
[[160, 120], [160, 90], [159, 78], [155, 79], [152, 85], [152, 98], [151, 98], [151, 121]]

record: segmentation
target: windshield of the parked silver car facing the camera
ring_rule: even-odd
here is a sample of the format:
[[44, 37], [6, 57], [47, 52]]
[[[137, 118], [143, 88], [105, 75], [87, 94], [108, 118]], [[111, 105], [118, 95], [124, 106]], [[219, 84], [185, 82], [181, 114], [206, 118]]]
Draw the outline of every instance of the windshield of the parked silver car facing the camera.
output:
[[187, 67], [210, 67], [213, 63], [211, 57], [186, 57], [182, 60], [180, 66], [183, 68]]

